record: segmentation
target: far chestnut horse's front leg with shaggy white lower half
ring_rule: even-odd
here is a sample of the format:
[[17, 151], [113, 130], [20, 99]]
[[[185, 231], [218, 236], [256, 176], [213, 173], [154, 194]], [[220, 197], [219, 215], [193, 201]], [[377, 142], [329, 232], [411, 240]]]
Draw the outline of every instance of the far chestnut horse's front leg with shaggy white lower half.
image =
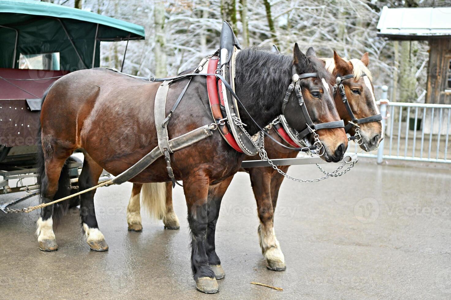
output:
[[270, 188], [271, 173], [267, 168], [253, 168], [249, 171], [253, 193], [257, 200], [257, 212], [260, 219], [258, 238], [262, 254], [267, 261], [266, 267], [274, 271], [283, 271], [286, 269], [285, 257], [273, 228], [274, 210]]

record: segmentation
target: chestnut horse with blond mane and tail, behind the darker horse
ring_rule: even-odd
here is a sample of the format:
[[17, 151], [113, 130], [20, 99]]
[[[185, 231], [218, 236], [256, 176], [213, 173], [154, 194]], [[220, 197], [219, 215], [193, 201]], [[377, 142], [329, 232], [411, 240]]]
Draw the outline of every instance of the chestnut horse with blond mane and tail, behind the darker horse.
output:
[[[309, 54], [309, 51], [307, 52]], [[344, 80], [342, 83], [345, 85], [345, 93], [352, 108], [354, 115], [360, 119], [372, 115], [379, 114], [377, 105], [374, 99], [373, 85], [371, 83], [371, 73], [367, 66], [369, 63], [368, 53], [365, 53], [362, 58], [344, 60], [334, 51], [333, 58], [322, 59], [327, 67], [327, 70], [333, 74], [334, 77], [343, 76], [347, 74], [353, 74], [354, 78]], [[362, 76], [366, 74], [366, 76]], [[366, 77], [366, 78], [365, 78]], [[335, 103], [339, 111], [340, 117], [345, 120], [345, 124], [351, 120], [344, 103], [338, 93], [335, 95]], [[362, 136], [362, 144], [360, 147], [365, 151], [375, 150], [380, 141], [383, 138], [382, 123], [381, 121], [373, 121], [369, 123], [359, 124], [360, 134]], [[285, 143], [281, 137], [274, 130], [269, 131], [273, 138], [281, 143]], [[350, 135], [355, 134], [355, 128], [350, 130]], [[265, 139], [267, 145], [267, 153], [270, 158], [294, 158], [298, 152], [290, 151], [286, 148], [271, 143], [269, 138]], [[285, 143], [285, 145], [288, 145]], [[246, 160], [259, 159], [256, 157], [246, 157]], [[282, 171], [288, 171], [289, 166], [281, 166]], [[255, 199], [257, 200], [258, 217], [260, 219], [260, 225], [258, 226], [258, 236], [260, 240], [260, 246], [262, 248], [262, 254], [267, 260], [267, 268], [275, 271], [285, 270], [285, 258], [281, 251], [279, 242], [276, 238], [273, 228], [274, 211], [276, 209], [277, 198], [279, 189], [284, 180], [284, 176], [279, 174], [272, 167], [255, 167], [240, 169], [240, 171], [246, 171], [250, 175], [251, 184]], [[149, 184], [154, 185], [154, 184]], [[159, 184], [164, 185], [164, 184]], [[226, 182], [221, 185], [221, 190], [226, 190]], [[147, 205], [145, 199], [152, 197], [147, 193], [149, 187], [144, 185], [146, 190], [141, 191], [141, 198], [143, 204]], [[179, 222], [177, 216], [172, 209], [172, 192], [170, 190], [170, 184], [167, 185], [166, 198], [161, 199], [161, 203], [166, 203], [166, 211], [163, 210], [160, 219], [163, 219], [165, 228], [177, 229], [179, 228]], [[127, 222], [129, 224], [129, 230], [141, 231], [141, 216], [139, 212], [139, 193], [140, 186], [133, 185], [132, 196], [127, 208]], [[154, 201], [156, 200], [156, 194], [153, 194]], [[219, 197], [219, 193], [216, 194]], [[221, 276], [221, 274], [217, 274]], [[222, 276], [224, 276], [222, 274]]]

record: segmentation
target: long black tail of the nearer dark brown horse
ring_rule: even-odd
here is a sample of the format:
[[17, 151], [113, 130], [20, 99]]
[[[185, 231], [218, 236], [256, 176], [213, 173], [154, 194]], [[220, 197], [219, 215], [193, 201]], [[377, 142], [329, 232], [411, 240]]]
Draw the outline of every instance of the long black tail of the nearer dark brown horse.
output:
[[[44, 95], [41, 98], [41, 106], [46, 99], [47, 93], [52, 88], [53, 84], [44, 92]], [[42, 180], [45, 177], [45, 157], [44, 150], [42, 149], [41, 142], [41, 121], [39, 120], [38, 132], [37, 132], [37, 154], [36, 154], [36, 173], [37, 173], [37, 185], [39, 186], [39, 202], [44, 203], [45, 199], [42, 197], [43, 186]], [[58, 181], [58, 190], [53, 197], [55, 200], [60, 199], [66, 196], [69, 196], [71, 192], [71, 184], [70, 184], [70, 175], [69, 175], [69, 166], [67, 161], [64, 163], [63, 168], [61, 169], [60, 179]], [[69, 201], [62, 201], [60, 203], [53, 204], [52, 211], [52, 220], [54, 224], [57, 224], [61, 217], [67, 213], [69, 209]]]

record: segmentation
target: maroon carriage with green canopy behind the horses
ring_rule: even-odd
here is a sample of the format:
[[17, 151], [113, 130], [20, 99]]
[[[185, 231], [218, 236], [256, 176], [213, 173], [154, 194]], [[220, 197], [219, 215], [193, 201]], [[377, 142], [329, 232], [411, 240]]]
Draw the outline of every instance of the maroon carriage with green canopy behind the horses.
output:
[[[128, 46], [130, 40], [144, 39], [144, 28], [29, 0], [0, 0], [0, 16], [0, 193], [28, 192], [0, 204], [5, 212], [38, 193], [36, 185], [24, 181], [36, 177], [37, 132], [46, 89], [65, 74], [99, 67], [101, 42], [127, 41]], [[122, 66], [126, 51], [127, 47]], [[75, 187], [81, 166], [82, 161], [72, 156], [70, 174]], [[107, 175], [104, 172], [102, 177]]]

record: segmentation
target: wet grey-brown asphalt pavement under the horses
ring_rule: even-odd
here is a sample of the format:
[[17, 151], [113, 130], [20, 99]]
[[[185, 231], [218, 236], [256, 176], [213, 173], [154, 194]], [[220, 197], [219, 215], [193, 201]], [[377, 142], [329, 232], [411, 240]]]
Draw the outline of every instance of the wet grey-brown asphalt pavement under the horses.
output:
[[[181, 228], [165, 230], [143, 212], [142, 232], [127, 231], [131, 184], [98, 189], [108, 252], [89, 249], [77, 208], [55, 229], [59, 250], [51, 253], [38, 249], [37, 211], [0, 212], [0, 299], [451, 299], [451, 172], [373, 162], [319, 183], [284, 181], [275, 217], [284, 272], [265, 267], [249, 176], [235, 175], [216, 230], [226, 278], [215, 295], [195, 290], [179, 187]], [[314, 166], [289, 173], [321, 175]]]

